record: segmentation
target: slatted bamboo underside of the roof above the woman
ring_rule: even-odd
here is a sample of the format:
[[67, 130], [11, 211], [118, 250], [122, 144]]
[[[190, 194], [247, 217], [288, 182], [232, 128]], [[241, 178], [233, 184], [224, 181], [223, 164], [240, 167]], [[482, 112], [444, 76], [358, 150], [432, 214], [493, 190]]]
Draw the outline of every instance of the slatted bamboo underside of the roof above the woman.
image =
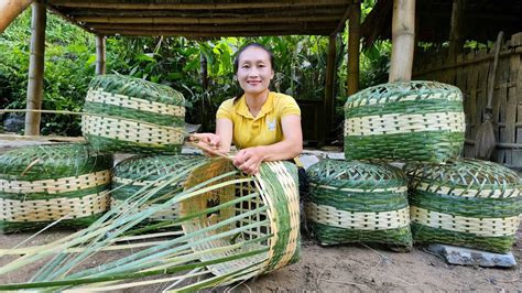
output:
[[329, 35], [352, 0], [47, 0], [47, 8], [97, 34]]

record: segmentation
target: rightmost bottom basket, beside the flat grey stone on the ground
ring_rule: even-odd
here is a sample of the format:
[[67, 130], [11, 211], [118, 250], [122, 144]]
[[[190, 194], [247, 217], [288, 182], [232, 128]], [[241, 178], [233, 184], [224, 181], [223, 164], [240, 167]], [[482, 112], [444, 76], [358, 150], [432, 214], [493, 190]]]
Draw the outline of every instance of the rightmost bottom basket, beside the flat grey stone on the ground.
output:
[[413, 239], [508, 252], [522, 213], [519, 177], [499, 164], [406, 164]]

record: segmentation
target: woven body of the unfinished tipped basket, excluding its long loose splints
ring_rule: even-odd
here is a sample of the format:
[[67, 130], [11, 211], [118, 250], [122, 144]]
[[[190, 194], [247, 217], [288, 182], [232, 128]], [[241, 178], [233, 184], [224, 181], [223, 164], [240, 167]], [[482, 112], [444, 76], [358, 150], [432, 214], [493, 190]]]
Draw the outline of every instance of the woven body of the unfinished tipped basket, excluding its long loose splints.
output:
[[[188, 177], [185, 188], [196, 186], [218, 174], [226, 174], [233, 170], [235, 166], [230, 161], [214, 160], [204, 167], [194, 171]], [[192, 241], [203, 241], [200, 245], [193, 246], [194, 252], [237, 242], [252, 242], [241, 249], [204, 254], [200, 259], [202, 261], [211, 261], [238, 253], [254, 253], [251, 257], [208, 265], [208, 269], [217, 276], [243, 272], [246, 269], [250, 271], [250, 273], [243, 272], [239, 279], [235, 279], [236, 281], [296, 262], [300, 258], [300, 200], [296, 166], [289, 162], [268, 162], [261, 165], [261, 170], [255, 176], [233, 176], [224, 177], [215, 184], [232, 178], [239, 178], [242, 182], [204, 193], [181, 203], [181, 216], [188, 216], [211, 206], [230, 203], [226, 208], [183, 223], [183, 230], [186, 235], [217, 223], [224, 224], [219, 229], [213, 229], [194, 237]], [[238, 203], [235, 204], [235, 202]], [[229, 220], [238, 215], [240, 215], [240, 219]], [[238, 235], [235, 234], [235, 229], [238, 227], [250, 228]], [[226, 237], [219, 236], [211, 241], [205, 240], [224, 232], [227, 235]], [[263, 238], [264, 240], [259, 241]]]

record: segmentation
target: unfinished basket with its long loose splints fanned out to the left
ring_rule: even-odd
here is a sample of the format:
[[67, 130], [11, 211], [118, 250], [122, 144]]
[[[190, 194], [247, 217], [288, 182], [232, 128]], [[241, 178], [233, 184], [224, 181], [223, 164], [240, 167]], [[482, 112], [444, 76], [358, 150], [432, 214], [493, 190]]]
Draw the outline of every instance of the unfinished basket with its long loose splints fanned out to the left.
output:
[[[164, 166], [166, 170], [177, 166], [177, 170], [165, 172], [156, 167], [142, 178], [135, 178], [142, 187], [88, 228], [0, 268], [0, 273], [7, 273], [55, 256], [30, 283], [0, 285], [0, 290], [63, 290], [72, 285], [113, 290], [141, 285], [129, 282], [139, 276], [173, 274], [168, 278], [183, 281], [205, 273], [203, 281], [174, 282], [177, 285], [172, 287], [192, 291], [246, 280], [298, 260], [298, 192], [294, 164], [263, 163], [257, 176], [241, 174], [226, 159], [187, 160], [183, 156], [177, 159], [177, 165], [164, 162]], [[126, 183], [120, 183], [116, 188], [121, 192], [126, 187]], [[163, 218], [155, 225], [141, 225], [177, 205], [178, 216]], [[100, 253], [100, 249], [138, 237], [133, 235], [151, 235], [160, 228], [168, 231], [180, 226], [183, 236], [166, 238], [95, 268], [79, 267]], [[151, 236], [154, 235], [161, 234]], [[140, 237], [146, 238], [146, 235]], [[124, 280], [128, 281], [117, 284]]]

